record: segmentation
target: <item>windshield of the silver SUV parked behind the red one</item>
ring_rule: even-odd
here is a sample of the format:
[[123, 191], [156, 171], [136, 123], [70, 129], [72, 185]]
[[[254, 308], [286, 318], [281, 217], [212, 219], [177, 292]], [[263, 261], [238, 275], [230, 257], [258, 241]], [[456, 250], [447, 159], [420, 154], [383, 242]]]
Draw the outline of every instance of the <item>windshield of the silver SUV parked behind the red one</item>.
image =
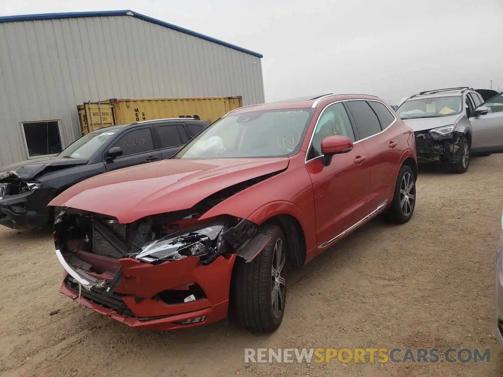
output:
[[448, 117], [461, 113], [461, 96], [423, 98], [404, 102], [397, 110], [401, 119]]

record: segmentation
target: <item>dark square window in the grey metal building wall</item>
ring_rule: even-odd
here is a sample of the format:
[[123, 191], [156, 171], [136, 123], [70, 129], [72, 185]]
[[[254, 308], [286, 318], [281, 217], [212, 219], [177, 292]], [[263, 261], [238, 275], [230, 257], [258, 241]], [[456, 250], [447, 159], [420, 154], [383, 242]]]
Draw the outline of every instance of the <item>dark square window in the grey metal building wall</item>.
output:
[[58, 121], [23, 122], [28, 157], [40, 157], [61, 152]]

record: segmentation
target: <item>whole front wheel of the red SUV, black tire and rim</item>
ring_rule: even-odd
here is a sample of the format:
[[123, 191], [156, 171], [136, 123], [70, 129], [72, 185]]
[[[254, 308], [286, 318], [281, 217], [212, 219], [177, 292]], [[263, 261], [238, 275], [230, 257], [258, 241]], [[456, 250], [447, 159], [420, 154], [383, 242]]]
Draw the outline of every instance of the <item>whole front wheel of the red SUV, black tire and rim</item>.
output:
[[271, 333], [278, 329], [285, 312], [286, 242], [276, 225], [266, 225], [262, 232], [271, 237], [262, 252], [249, 263], [236, 258], [233, 291], [239, 325]]

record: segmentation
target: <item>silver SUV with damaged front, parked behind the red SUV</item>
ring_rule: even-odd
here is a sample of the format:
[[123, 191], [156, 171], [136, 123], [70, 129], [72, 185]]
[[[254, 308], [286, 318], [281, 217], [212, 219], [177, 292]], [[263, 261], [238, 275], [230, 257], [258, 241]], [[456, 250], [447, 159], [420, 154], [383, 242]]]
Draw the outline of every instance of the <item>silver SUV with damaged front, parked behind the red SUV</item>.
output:
[[[414, 131], [418, 163], [447, 164], [464, 173], [470, 155], [503, 152], [503, 93], [456, 87], [401, 101], [396, 113]], [[484, 102], [484, 100], [487, 100]]]

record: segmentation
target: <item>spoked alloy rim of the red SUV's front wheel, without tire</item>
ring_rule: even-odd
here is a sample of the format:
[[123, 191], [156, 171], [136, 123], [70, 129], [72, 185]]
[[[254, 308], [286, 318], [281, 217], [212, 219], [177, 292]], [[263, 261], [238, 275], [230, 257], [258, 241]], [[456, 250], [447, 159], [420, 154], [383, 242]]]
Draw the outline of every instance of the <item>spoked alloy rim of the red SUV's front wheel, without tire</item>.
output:
[[278, 238], [274, 245], [273, 265], [271, 268], [271, 303], [276, 319], [281, 317], [285, 307], [286, 279], [284, 276], [285, 252], [283, 240]]

